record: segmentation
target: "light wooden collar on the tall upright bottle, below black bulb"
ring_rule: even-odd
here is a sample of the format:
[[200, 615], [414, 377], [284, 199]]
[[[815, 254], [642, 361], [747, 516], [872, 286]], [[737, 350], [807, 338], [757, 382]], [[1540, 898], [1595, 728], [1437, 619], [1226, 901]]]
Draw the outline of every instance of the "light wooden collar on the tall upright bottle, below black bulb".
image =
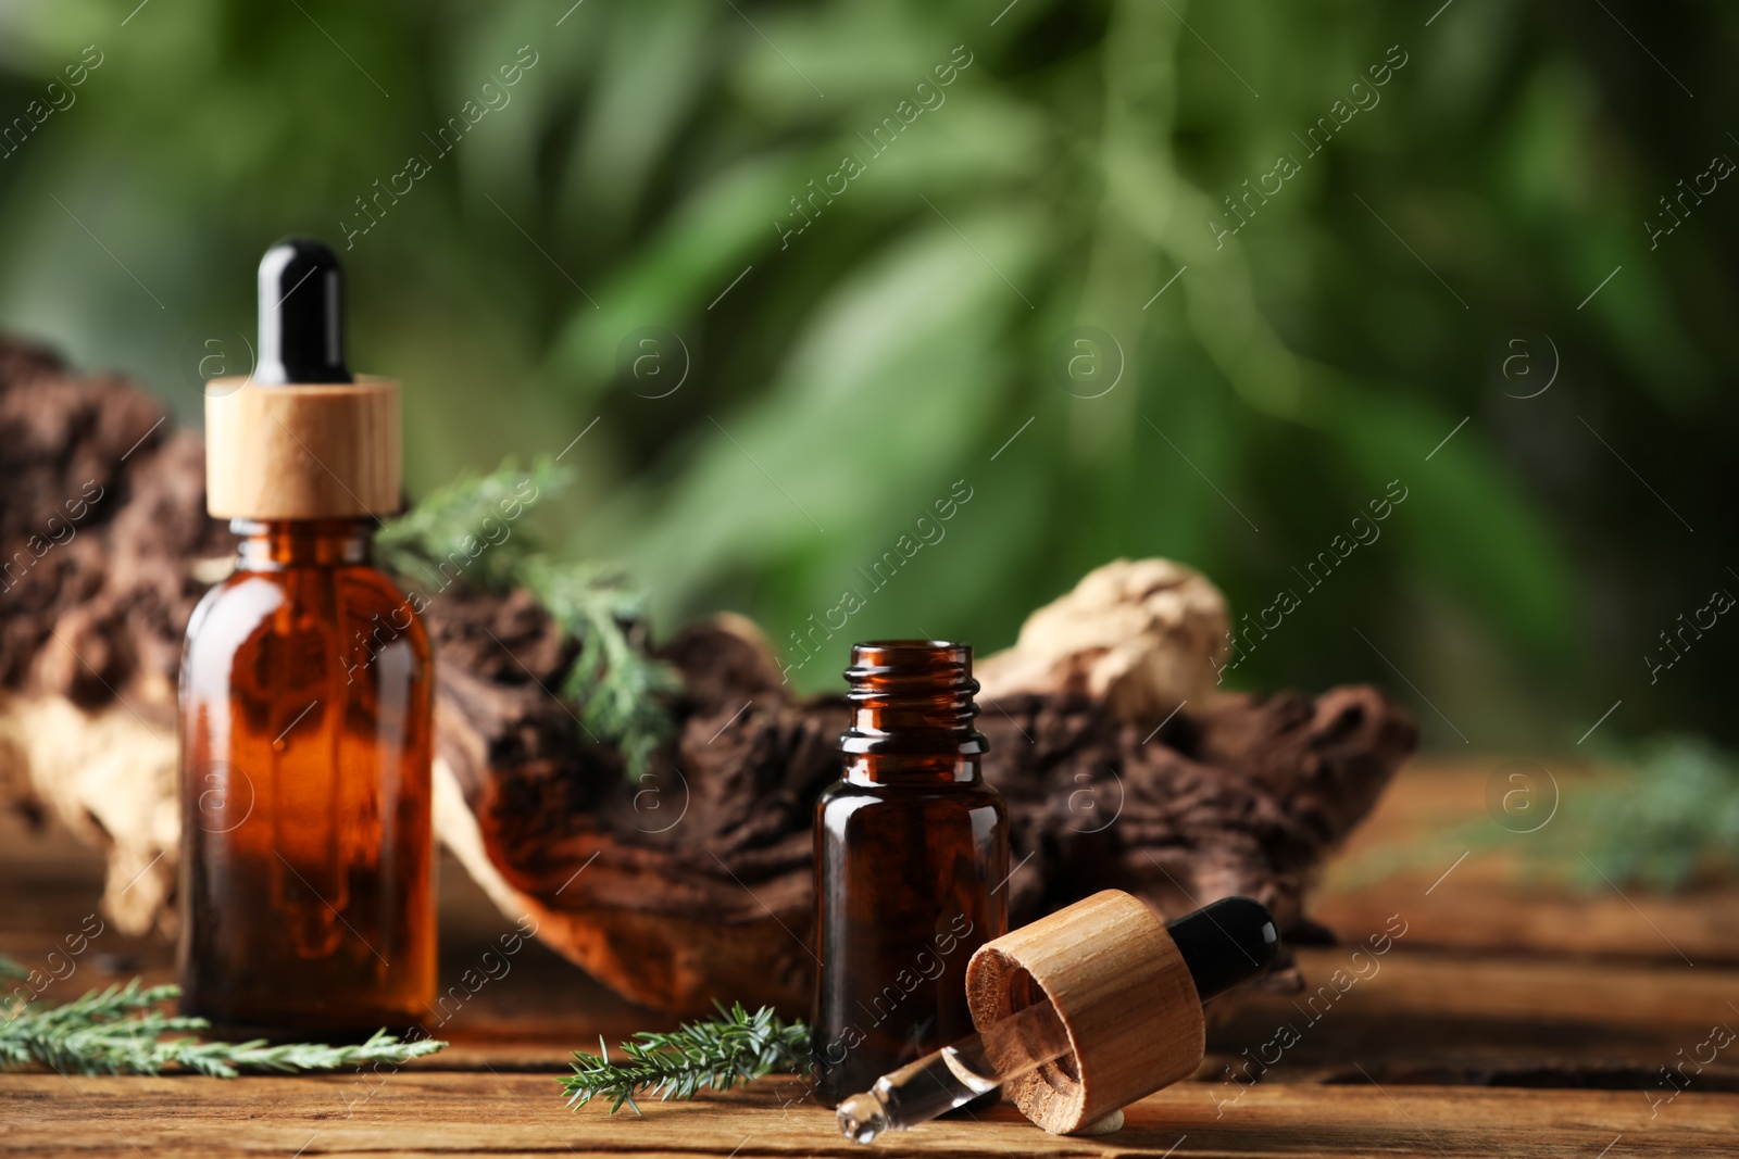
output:
[[343, 520], [400, 507], [398, 382], [205, 386], [205, 509], [217, 520]]

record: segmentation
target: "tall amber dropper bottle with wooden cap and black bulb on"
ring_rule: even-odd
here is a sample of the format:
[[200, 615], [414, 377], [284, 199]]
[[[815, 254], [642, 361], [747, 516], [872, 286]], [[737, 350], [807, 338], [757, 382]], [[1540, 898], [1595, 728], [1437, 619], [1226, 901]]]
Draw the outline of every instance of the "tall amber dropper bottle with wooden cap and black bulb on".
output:
[[181, 1008], [238, 1032], [409, 1029], [435, 992], [431, 666], [370, 563], [398, 384], [344, 365], [320, 242], [259, 264], [259, 367], [205, 391], [235, 572], [181, 664]]

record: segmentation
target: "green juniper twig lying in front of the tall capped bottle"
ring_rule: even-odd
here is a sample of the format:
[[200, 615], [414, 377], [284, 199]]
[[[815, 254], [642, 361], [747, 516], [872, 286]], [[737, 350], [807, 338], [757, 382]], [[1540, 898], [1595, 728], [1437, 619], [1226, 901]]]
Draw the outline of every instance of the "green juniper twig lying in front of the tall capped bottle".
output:
[[[0, 973], [19, 977], [17, 964], [0, 956]], [[358, 1046], [322, 1043], [202, 1043], [165, 1034], [203, 1030], [203, 1018], [165, 1015], [158, 1006], [181, 994], [176, 985], [127, 985], [90, 990], [57, 1006], [10, 1004], [0, 1022], [0, 1069], [37, 1062], [61, 1074], [162, 1074], [183, 1067], [217, 1079], [242, 1070], [296, 1074], [337, 1070], [370, 1062], [400, 1063], [447, 1046], [436, 1039], [400, 1041], [377, 1030]]]

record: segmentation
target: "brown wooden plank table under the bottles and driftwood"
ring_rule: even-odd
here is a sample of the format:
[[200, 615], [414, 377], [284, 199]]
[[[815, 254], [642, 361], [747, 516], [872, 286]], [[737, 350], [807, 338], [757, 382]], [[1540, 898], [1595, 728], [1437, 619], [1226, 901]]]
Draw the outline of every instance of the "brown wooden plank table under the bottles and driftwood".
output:
[[[1649, 898], [1530, 888], [1518, 884], [1502, 846], [1459, 858], [1447, 850], [1442, 864], [1393, 872], [1398, 850], [1429, 850], [1429, 834], [1485, 817], [1494, 768], [1407, 770], [1325, 874], [1313, 912], [1343, 944], [1299, 952], [1309, 990], [1223, 1011], [1196, 1077], [1130, 1107], [1123, 1131], [1054, 1138], [1003, 1105], [979, 1121], [896, 1135], [878, 1149], [1739, 1156], [1739, 1043], [1701, 1070], [1687, 1065], [1676, 1095], [1661, 1077], [1662, 1067], [1706, 1056], [1699, 1044], [1713, 1025], [1739, 1029], [1739, 890]], [[1567, 773], [1560, 780], [1574, 785]], [[99, 883], [101, 862], [64, 838], [0, 832], [0, 952], [40, 961], [94, 909]], [[510, 923], [454, 865], [443, 867], [442, 890], [442, 966], [456, 978]], [[1405, 933], [1383, 956], [1367, 945], [1353, 957], [1386, 926]], [[71, 997], [136, 971], [167, 980], [169, 961], [158, 942], [108, 931], [78, 973], [45, 997]], [[694, 1103], [645, 1102], [643, 1117], [562, 1105], [556, 1076], [567, 1051], [595, 1046], [600, 1034], [617, 1039], [668, 1023], [529, 945], [442, 1029], [452, 1048], [402, 1070], [228, 1083], [7, 1074], [0, 1150], [864, 1154], [840, 1140], [831, 1112], [795, 1100], [790, 1081]], [[1282, 1027], [1294, 1034], [1282, 1036]], [[1261, 1060], [1271, 1062], [1263, 1069]], [[1233, 1077], [1228, 1067], [1242, 1069]]]

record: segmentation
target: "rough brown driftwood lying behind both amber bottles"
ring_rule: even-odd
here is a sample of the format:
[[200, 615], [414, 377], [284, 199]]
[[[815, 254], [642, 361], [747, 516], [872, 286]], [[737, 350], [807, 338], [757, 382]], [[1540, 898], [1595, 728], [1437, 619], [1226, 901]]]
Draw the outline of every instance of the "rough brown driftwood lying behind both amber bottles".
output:
[[[162, 419], [118, 379], [0, 344], [0, 799], [106, 844], [104, 905], [132, 931], [174, 924], [176, 666], [233, 549], [203, 513], [198, 438]], [[1412, 752], [1412, 721], [1372, 688], [1210, 695], [1212, 586], [1165, 561], [1096, 577], [1076, 612], [1097, 601], [1094, 624], [1136, 624], [1146, 650], [1099, 626], [1075, 653], [1045, 631], [1042, 657], [986, 662], [1010, 919], [1101, 888], [1165, 916], [1247, 893], [1290, 935], [1320, 933], [1306, 884]], [[426, 622], [436, 831], [503, 912], [635, 1001], [802, 1013], [810, 810], [838, 775], [843, 702], [795, 697], [741, 617], [692, 626], [663, 648], [685, 686], [676, 738], [630, 782], [550, 692], [576, 645], [525, 591], [456, 584]]]

